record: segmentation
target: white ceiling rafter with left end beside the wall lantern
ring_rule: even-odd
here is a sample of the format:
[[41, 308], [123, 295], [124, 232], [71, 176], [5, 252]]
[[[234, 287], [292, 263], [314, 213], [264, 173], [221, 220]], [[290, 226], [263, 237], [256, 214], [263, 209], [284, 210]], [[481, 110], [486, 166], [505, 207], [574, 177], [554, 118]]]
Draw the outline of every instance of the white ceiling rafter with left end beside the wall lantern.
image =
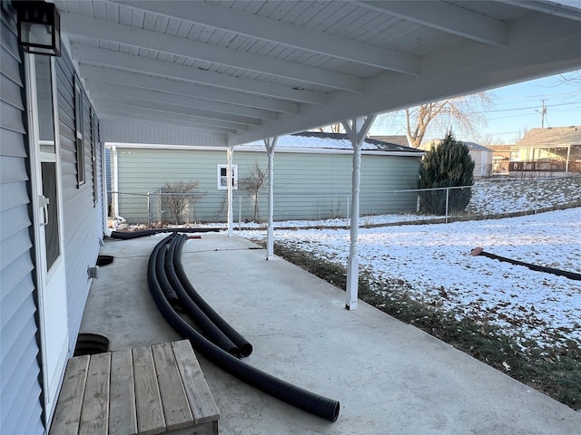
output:
[[352, 75], [321, 70], [258, 54], [244, 53], [169, 34], [159, 34], [130, 25], [97, 20], [84, 15], [61, 14], [61, 25], [71, 34], [219, 63], [251, 72], [283, 77], [300, 83], [310, 83], [349, 92], [362, 92], [364, 89], [363, 79]]

